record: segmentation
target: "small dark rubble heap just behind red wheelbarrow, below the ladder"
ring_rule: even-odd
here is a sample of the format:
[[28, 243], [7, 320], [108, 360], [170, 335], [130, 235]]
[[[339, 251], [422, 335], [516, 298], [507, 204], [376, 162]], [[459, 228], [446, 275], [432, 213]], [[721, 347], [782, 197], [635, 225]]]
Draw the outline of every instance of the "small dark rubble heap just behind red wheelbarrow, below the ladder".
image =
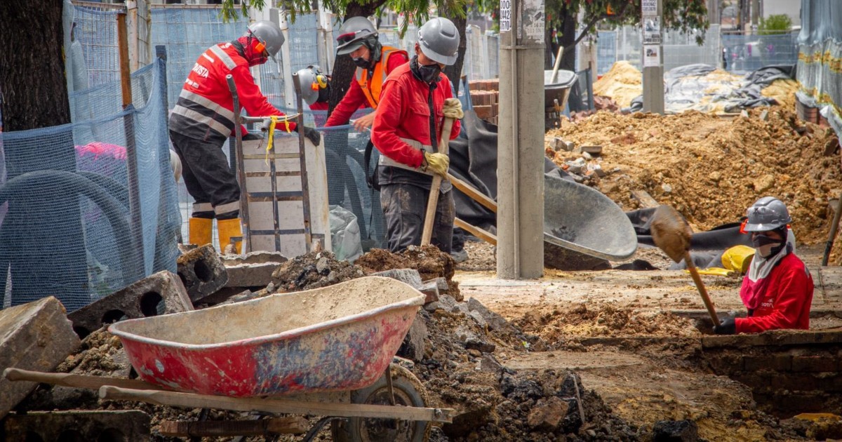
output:
[[330, 252], [311, 252], [292, 258], [272, 272], [269, 293], [311, 290], [334, 285], [365, 273], [348, 261], [338, 261]]

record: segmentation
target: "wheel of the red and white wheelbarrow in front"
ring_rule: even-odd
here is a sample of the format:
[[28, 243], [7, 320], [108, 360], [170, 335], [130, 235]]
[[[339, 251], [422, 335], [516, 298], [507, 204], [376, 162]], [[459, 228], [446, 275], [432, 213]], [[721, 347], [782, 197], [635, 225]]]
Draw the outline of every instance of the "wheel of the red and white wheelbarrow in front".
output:
[[[392, 391], [395, 404], [404, 407], [426, 407], [427, 391], [412, 371], [392, 364]], [[374, 384], [351, 392], [352, 403], [390, 405], [386, 376]], [[429, 422], [396, 419], [347, 418], [331, 423], [336, 442], [424, 442], [429, 439]]]

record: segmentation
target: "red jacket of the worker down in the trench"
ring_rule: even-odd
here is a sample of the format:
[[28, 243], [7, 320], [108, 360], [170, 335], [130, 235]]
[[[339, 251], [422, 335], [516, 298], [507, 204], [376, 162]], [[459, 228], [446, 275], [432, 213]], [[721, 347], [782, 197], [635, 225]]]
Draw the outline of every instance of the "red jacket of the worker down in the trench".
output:
[[813, 276], [802, 260], [794, 253], [786, 255], [767, 278], [770, 281], [760, 306], [751, 312], [750, 317], [738, 317], [735, 320], [737, 333], [810, 328]]

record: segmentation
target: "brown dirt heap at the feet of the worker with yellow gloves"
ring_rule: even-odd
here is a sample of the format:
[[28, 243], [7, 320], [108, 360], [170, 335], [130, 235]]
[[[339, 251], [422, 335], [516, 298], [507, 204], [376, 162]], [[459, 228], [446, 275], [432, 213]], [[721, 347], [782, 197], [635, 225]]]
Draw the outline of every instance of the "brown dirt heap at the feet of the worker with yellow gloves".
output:
[[456, 299], [461, 299], [459, 282], [453, 280], [456, 272], [456, 262], [450, 254], [444, 253], [435, 246], [409, 246], [401, 253], [391, 253], [382, 248], [373, 248], [354, 261], [354, 265], [364, 269], [366, 274], [391, 269], [416, 269], [421, 274], [421, 280], [445, 278], [448, 293]]

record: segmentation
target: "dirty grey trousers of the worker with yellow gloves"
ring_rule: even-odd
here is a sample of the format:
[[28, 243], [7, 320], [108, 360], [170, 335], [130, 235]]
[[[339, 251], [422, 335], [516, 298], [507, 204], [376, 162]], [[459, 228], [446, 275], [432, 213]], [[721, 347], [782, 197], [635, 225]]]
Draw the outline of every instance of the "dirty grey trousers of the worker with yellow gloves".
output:
[[[428, 199], [429, 190], [413, 184], [381, 184], [380, 204], [390, 252], [399, 253], [409, 246], [421, 244]], [[453, 192], [439, 194], [430, 243], [445, 253], [450, 253], [455, 217]]]

